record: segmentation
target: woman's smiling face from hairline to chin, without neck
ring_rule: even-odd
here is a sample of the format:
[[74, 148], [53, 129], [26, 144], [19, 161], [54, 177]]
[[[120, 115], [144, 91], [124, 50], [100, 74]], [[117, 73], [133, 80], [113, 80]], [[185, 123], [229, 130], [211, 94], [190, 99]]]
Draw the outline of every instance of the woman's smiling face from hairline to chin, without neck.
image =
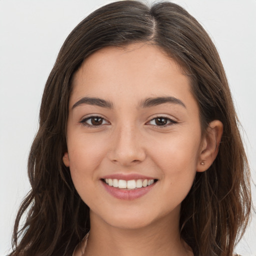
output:
[[106, 47], [75, 73], [63, 161], [91, 218], [122, 228], [178, 220], [201, 148], [189, 80], [157, 46]]

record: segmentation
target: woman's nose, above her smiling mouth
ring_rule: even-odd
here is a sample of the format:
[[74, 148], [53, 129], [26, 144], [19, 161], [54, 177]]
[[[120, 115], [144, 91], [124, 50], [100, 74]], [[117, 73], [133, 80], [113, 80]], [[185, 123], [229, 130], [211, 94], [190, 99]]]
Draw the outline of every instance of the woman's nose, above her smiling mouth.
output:
[[109, 159], [115, 164], [130, 166], [142, 162], [145, 157], [139, 129], [131, 125], [116, 127], [109, 151]]

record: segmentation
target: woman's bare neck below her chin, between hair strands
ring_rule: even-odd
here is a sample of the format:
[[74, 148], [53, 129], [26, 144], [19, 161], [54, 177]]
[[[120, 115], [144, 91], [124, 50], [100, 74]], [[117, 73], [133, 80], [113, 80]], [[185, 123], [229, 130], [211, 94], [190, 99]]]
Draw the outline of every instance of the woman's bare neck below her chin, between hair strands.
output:
[[180, 239], [178, 221], [173, 221], [170, 216], [144, 227], [120, 228], [108, 225], [102, 219], [100, 221], [91, 213], [90, 224], [85, 256], [193, 255]]

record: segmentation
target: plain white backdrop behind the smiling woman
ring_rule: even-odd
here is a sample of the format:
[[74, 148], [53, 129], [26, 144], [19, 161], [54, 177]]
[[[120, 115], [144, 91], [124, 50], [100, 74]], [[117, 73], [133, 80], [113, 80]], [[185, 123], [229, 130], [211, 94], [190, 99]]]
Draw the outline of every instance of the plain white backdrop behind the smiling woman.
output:
[[[151, 0], [149, 0], [151, 1]], [[0, 255], [29, 190], [26, 161], [42, 90], [72, 28], [107, 0], [0, 0]], [[256, 181], [256, 0], [174, 0], [197, 18], [220, 53]], [[256, 187], [252, 184], [254, 204]], [[238, 253], [256, 255], [256, 217]]]

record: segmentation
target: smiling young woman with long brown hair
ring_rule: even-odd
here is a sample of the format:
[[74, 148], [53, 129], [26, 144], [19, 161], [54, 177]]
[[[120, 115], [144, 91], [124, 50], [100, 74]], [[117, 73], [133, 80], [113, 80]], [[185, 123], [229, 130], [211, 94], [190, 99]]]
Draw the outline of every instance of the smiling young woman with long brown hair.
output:
[[28, 173], [12, 256], [232, 255], [249, 168], [200, 24], [170, 2], [82, 20], [46, 82]]

